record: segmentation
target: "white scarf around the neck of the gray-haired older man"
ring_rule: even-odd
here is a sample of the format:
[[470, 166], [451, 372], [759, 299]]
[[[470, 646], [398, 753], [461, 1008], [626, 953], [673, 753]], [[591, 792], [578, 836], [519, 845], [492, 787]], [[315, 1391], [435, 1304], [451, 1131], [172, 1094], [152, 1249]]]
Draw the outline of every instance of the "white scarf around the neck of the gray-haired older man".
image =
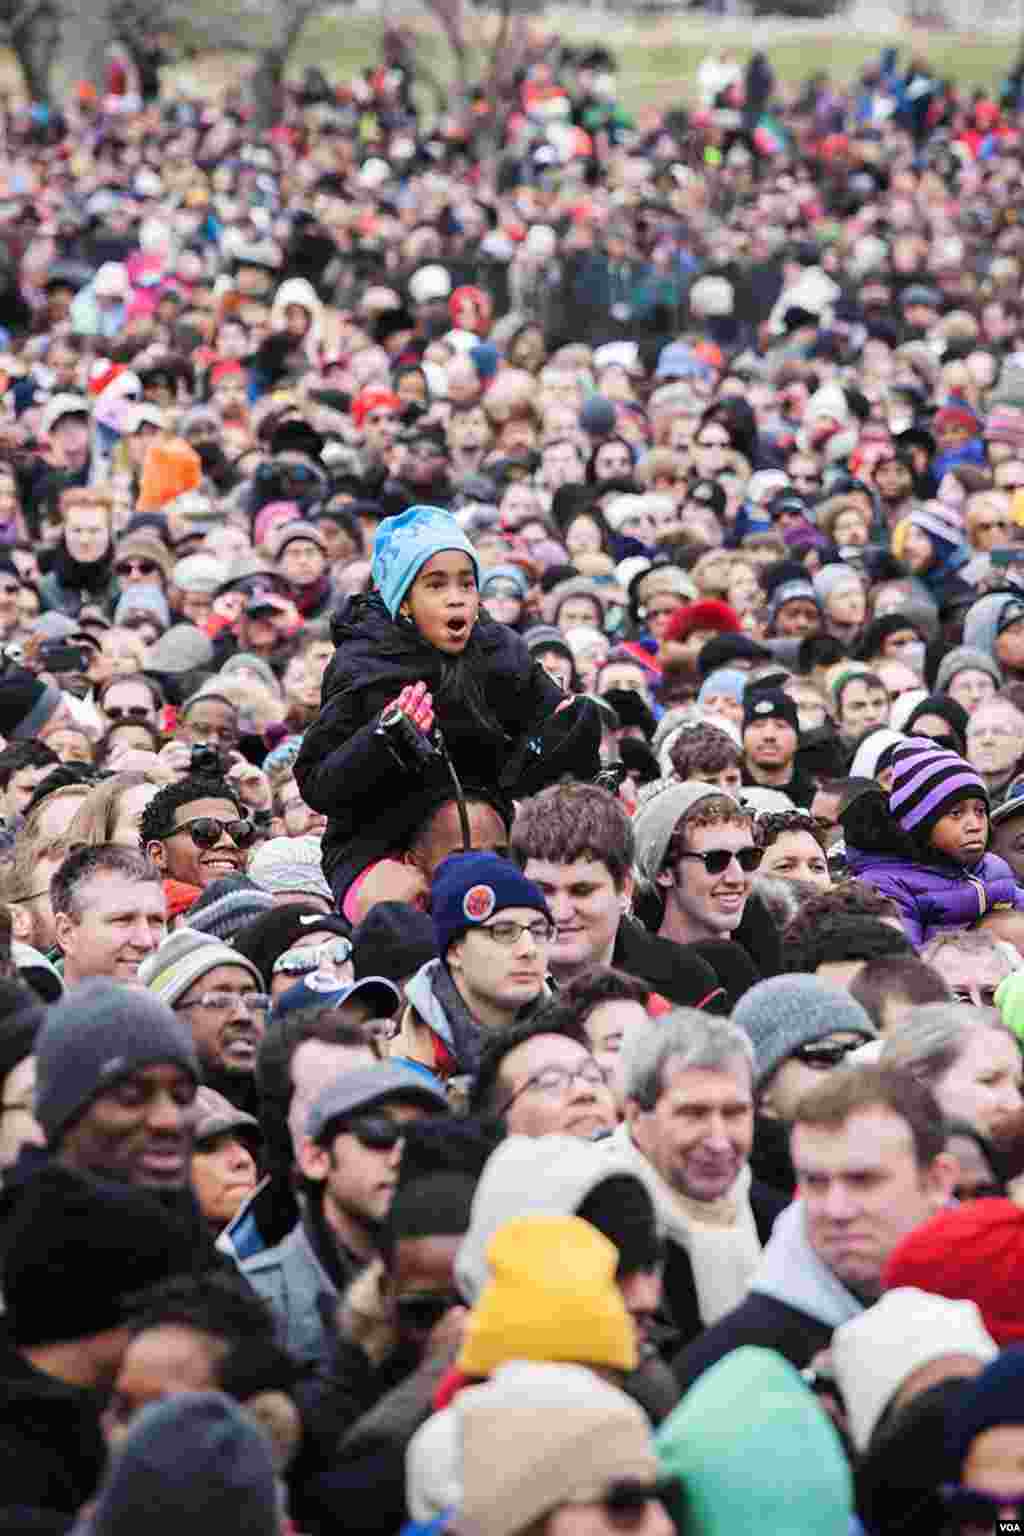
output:
[[625, 1154], [651, 1190], [659, 1224], [689, 1258], [703, 1326], [711, 1327], [738, 1307], [761, 1258], [761, 1240], [749, 1200], [749, 1166], [743, 1164], [732, 1186], [717, 1200], [692, 1200], [662, 1178], [633, 1141], [628, 1124], [619, 1126], [599, 1146]]

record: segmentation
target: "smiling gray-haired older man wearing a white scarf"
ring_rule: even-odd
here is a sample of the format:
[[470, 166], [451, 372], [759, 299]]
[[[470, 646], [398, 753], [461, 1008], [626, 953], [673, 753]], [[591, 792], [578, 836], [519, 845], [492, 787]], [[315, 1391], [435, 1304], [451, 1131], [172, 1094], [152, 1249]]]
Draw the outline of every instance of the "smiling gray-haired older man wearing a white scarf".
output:
[[754, 1052], [728, 1020], [677, 1009], [623, 1054], [626, 1120], [608, 1144], [654, 1193], [665, 1296], [692, 1339], [743, 1299], [785, 1204], [751, 1180]]

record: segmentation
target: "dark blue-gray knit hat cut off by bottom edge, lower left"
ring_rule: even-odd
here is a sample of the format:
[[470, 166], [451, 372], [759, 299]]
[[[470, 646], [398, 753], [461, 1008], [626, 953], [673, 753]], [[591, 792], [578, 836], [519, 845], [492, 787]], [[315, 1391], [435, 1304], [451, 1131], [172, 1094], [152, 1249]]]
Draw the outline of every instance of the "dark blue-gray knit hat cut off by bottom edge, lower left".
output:
[[111, 1462], [89, 1531], [278, 1536], [270, 1442], [230, 1398], [183, 1392], [141, 1410]]

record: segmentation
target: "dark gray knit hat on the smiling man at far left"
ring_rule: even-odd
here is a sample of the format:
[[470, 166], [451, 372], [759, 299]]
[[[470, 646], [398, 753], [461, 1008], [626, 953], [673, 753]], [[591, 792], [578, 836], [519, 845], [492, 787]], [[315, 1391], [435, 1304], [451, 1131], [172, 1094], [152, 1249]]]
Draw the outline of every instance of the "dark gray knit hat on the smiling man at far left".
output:
[[192, 1034], [166, 1003], [106, 977], [80, 982], [49, 1009], [35, 1041], [35, 1118], [49, 1146], [111, 1083], [166, 1063], [198, 1083]]

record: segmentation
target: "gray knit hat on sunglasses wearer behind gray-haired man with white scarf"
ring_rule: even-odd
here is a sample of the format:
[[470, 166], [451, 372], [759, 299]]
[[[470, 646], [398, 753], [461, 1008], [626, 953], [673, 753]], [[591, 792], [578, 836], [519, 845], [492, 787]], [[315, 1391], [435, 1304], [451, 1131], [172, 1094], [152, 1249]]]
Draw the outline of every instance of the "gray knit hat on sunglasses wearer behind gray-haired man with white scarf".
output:
[[754, 1044], [754, 1083], [761, 1087], [800, 1046], [838, 1032], [875, 1038], [875, 1028], [857, 998], [817, 975], [772, 975], [745, 992], [732, 1023]]

